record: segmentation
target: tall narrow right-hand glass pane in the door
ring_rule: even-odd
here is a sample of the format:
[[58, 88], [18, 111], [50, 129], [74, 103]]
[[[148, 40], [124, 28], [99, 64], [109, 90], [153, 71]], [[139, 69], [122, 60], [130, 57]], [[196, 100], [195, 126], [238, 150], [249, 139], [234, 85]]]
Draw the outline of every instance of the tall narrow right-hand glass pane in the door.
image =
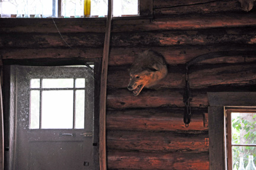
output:
[[76, 91], [75, 129], [84, 129], [85, 91]]

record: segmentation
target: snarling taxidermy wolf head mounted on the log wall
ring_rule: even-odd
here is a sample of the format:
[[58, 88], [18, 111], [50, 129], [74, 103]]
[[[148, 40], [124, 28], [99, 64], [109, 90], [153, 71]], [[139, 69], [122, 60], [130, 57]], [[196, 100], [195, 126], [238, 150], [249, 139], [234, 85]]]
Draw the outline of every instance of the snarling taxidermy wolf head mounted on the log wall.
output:
[[133, 62], [127, 88], [137, 96], [144, 87], [156, 85], [167, 75], [167, 72], [164, 56], [152, 50], [146, 50]]

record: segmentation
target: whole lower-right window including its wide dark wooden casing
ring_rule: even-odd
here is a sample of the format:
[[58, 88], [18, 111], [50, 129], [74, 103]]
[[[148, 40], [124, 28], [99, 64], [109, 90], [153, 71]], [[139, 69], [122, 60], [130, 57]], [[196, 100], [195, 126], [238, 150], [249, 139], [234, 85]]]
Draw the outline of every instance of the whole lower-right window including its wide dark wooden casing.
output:
[[207, 92], [207, 95], [210, 170], [238, 169], [240, 157], [246, 167], [250, 154], [255, 163], [256, 92]]

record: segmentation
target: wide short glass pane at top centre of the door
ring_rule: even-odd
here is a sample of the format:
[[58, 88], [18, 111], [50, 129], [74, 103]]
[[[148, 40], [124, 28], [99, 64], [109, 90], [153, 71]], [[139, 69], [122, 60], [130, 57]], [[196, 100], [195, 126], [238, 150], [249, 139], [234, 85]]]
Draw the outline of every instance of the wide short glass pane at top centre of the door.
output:
[[43, 79], [43, 88], [73, 88], [73, 79]]

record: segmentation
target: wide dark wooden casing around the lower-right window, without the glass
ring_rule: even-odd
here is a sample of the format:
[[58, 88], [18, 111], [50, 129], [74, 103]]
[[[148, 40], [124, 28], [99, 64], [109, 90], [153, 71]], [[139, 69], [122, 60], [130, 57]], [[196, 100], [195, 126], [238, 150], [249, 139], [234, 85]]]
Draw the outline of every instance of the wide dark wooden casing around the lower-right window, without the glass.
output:
[[210, 170], [226, 169], [225, 110], [256, 107], [256, 92], [207, 92]]

